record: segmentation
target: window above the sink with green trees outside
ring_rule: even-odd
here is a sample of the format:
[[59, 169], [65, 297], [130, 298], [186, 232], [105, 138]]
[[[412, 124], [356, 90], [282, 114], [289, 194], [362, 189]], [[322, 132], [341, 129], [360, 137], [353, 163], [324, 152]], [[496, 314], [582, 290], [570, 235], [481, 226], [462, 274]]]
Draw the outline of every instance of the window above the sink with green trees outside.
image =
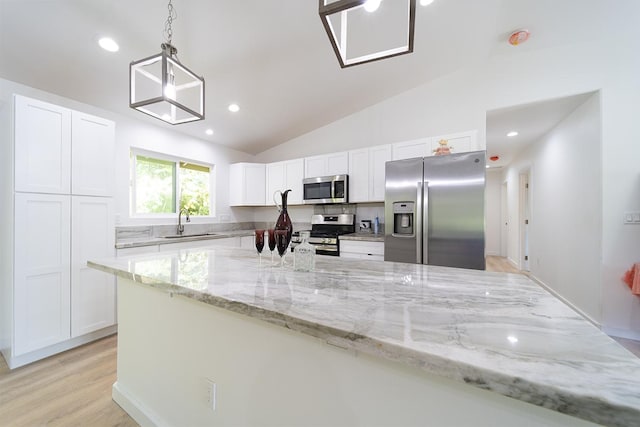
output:
[[161, 154], [131, 153], [131, 211], [133, 215], [212, 215], [211, 166]]

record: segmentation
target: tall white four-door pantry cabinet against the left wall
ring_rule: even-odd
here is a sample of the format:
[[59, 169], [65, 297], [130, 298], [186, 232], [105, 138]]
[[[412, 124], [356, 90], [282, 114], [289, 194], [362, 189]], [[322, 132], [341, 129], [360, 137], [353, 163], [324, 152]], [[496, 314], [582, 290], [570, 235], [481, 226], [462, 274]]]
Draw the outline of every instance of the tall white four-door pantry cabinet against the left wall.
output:
[[[2, 352], [10, 368], [115, 332], [115, 282], [87, 268], [113, 256], [115, 125], [15, 95], [13, 275]], [[10, 265], [10, 264], [9, 264]]]

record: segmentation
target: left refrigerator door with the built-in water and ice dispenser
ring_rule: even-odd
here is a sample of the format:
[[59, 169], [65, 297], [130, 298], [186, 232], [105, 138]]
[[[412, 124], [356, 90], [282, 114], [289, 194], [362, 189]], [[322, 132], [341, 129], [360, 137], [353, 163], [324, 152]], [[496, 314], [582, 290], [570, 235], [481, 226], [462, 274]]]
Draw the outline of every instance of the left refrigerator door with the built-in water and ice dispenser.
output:
[[385, 167], [384, 260], [422, 262], [422, 157]]

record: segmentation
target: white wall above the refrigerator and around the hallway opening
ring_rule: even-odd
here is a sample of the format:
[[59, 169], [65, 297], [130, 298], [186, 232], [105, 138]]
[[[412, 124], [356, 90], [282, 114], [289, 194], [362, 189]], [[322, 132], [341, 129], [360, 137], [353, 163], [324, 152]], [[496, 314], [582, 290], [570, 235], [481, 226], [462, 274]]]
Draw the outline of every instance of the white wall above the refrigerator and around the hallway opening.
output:
[[[640, 261], [640, 226], [622, 223], [640, 210], [640, 2], [607, 9], [607, 31], [595, 41], [493, 56], [284, 142], [258, 156], [284, 160], [428, 135], [477, 129], [485, 146], [487, 110], [601, 90], [602, 275], [599, 320], [610, 333], [640, 339], [640, 298], [620, 280]], [[510, 188], [510, 191], [512, 189]], [[510, 219], [511, 222], [513, 219]], [[577, 285], [576, 285], [577, 286]], [[580, 302], [582, 304], [582, 302]]]

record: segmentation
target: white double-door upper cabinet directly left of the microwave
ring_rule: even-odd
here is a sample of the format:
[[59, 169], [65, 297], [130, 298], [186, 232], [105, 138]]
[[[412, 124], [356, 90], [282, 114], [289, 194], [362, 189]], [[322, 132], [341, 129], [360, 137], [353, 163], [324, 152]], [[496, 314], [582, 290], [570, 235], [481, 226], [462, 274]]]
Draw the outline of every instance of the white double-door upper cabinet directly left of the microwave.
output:
[[286, 160], [267, 164], [266, 206], [273, 206], [276, 191], [291, 189], [288, 196], [290, 205], [302, 204], [302, 179], [304, 159]]

